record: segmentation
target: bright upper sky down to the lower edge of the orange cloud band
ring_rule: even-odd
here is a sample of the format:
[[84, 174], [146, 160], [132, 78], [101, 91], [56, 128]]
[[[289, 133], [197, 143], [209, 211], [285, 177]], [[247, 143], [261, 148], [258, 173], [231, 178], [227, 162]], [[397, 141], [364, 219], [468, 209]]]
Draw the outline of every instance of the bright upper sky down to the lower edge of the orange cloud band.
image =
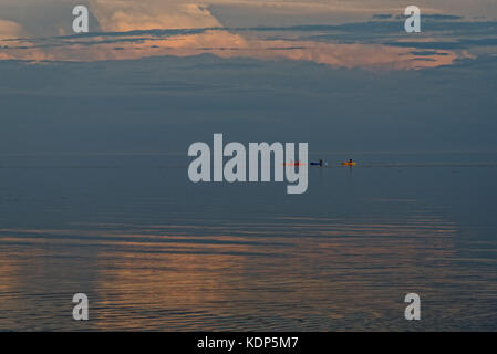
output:
[[[495, 49], [490, 34], [497, 3], [468, 3], [420, 1], [424, 33], [406, 35], [404, 4], [392, 0], [2, 0], [0, 59], [99, 61], [213, 53], [334, 67], [433, 67], [475, 58], [482, 46]], [[91, 12], [89, 35], [72, 32], [75, 4]], [[487, 42], [468, 49], [466, 43], [475, 39]], [[466, 43], [446, 43], [457, 41]], [[427, 44], [417, 42], [439, 45], [420, 55], [412, 49]]]

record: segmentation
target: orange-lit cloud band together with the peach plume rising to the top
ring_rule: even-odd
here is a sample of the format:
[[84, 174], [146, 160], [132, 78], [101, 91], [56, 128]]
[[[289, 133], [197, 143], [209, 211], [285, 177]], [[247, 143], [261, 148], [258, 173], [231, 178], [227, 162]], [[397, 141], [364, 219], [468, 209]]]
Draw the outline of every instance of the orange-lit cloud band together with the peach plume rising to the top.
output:
[[229, 28], [221, 27], [203, 6], [177, 0], [91, 0], [90, 6], [104, 32], [10, 41], [0, 59], [106, 61], [209, 53], [332, 67], [410, 70], [475, 59], [482, 53], [479, 48], [486, 48], [484, 54], [497, 50], [494, 38], [482, 39], [496, 22], [463, 21], [453, 15], [434, 14], [423, 35], [408, 37], [402, 32], [402, 22], [382, 20], [383, 15], [375, 21], [333, 25]]

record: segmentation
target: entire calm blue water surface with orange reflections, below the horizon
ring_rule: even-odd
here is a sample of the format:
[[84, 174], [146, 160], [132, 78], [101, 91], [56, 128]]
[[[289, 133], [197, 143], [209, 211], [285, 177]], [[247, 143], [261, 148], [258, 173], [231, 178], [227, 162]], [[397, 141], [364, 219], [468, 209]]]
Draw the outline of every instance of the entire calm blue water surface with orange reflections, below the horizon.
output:
[[[0, 330], [497, 327], [493, 166], [310, 169], [292, 198], [136, 159], [0, 168]], [[408, 292], [421, 322], [404, 320]]]

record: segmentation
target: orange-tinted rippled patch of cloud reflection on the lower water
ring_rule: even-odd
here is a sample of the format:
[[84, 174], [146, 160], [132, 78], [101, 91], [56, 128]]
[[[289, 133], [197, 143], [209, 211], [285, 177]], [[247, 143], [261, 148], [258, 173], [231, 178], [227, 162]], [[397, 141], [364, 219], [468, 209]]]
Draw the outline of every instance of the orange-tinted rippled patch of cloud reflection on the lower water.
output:
[[86, 329], [398, 330], [402, 296], [416, 291], [432, 306], [424, 323], [449, 329], [469, 304], [452, 300], [491, 290], [459, 266], [449, 220], [327, 220], [2, 229], [2, 306], [28, 324], [85, 329], [66, 313], [81, 291]]

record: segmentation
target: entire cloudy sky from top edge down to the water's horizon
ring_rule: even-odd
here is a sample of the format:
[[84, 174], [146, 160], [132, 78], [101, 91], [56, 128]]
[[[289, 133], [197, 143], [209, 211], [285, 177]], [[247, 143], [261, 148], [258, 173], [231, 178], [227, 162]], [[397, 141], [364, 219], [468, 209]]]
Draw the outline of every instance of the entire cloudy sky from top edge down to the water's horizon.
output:
[[[87, 6], [90, 33], [72, 33]], [[0, 154], [496, 149], [495, 0], [0, 0]], [[263, 126], [265, 128], [261, 128]]]

